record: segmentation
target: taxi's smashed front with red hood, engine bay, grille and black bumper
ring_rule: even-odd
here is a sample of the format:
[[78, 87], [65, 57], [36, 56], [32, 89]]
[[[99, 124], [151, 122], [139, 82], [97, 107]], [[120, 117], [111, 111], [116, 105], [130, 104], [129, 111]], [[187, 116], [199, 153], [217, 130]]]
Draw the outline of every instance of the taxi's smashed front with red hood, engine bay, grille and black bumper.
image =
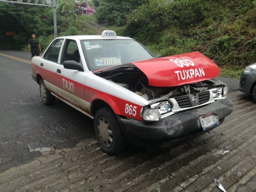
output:
[[143, 121], [126, 116], [119, 116], [118, 121], [126, 140], [150, 148], [167, 147], [208, 132], [231, 114], [228, 87], [215, 78], [219, 74], [218, 66], [199, 52], [95, 73], [148, 101], [140, 111]]

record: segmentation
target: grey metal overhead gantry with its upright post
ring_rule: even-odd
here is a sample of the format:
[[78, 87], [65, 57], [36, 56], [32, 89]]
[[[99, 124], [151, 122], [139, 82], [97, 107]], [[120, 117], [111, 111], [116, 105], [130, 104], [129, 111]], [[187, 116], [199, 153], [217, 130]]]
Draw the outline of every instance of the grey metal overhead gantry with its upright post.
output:
[[39, 5], [48, 6], [53, 8], [53, 23], [54, 23], [54, 36], [57, 37], [57, 21], [56, 21], [56, 7], [58, 7], [58, 0], [0, 0], [0, 2], [5, 3], [18, 3], [18, 4], [29, 4], [29, 5]]

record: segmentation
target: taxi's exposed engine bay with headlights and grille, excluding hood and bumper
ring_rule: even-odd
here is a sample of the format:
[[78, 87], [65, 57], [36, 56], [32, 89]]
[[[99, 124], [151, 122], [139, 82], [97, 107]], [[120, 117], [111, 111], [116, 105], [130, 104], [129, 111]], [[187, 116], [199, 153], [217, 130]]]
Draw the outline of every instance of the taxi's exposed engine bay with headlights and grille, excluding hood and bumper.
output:
[[151, 86], [146, 74], [133, 64], [96, 75], [148, 100], [149, 105], [141, 111], [143, 120], [148, 122], [225, 99], [228, 92], [226, 84], [215, 78], [177, 86]]

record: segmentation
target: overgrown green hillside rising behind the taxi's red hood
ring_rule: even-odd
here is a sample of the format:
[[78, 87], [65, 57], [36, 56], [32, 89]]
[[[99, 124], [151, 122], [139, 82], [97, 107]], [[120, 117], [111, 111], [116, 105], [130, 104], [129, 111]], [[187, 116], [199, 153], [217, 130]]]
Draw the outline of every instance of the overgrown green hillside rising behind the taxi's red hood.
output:
[[[163, 56], [199, 51], [225, 71], [256, 62], [256, 1], [175, 1], [140, 6], [123, 35]], [[152, 16], [153, 15], [153, 16]]]

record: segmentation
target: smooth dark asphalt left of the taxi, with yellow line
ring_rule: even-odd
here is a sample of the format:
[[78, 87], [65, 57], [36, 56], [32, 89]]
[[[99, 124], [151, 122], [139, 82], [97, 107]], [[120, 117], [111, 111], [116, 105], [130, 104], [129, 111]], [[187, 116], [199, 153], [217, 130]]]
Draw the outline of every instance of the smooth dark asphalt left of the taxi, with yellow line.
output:
[[60, 100], [43, 105], [30, 60], [30, 52], [0, 50], [0, 172], [41, 156], [40, 148], [74, 147], [94, 137], [92, 119]]

